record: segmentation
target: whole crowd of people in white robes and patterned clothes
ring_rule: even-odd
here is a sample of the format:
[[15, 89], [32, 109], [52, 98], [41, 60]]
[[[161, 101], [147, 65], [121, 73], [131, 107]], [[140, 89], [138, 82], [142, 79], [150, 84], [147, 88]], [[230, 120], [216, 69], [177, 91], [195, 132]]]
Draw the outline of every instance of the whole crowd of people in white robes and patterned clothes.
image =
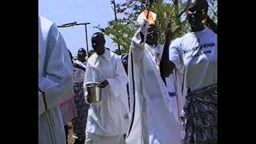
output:
[[[106, 48], [74, 59], [54, 22], [38, 16], [38, 144], [218, 143], [217, 25], [206, 0], [188, 0], [190, 32], [166, 30], [159, 44], [157, 14], [142, 12], [129, 54]], [[88, 55], [87, 55], [88, 54]], [[86, 86], [97, 83], [99, 102]]]

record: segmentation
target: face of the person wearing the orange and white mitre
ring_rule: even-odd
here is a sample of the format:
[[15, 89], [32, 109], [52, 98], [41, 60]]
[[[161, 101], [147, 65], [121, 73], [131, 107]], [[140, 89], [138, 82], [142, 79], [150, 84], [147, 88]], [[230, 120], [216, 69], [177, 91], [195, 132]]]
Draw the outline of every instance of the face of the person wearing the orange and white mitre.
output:
[[146, 43], [150, 45], [158, 45], [158, 30], [156, 26], [148, 26]]

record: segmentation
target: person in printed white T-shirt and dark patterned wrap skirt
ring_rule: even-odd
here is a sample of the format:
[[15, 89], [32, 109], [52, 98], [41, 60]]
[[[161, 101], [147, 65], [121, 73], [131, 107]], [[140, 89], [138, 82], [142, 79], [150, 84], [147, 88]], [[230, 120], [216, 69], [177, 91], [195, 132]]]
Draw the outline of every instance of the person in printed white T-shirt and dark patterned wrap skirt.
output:
[[[182, 143], [218, 143], [217, 25], [208, 23], [206, 0], [186, 6], [190, 32], [176, 38], [162, 58], [162, 74], [174, 72], [182, 116]], [[203, 22], [204, 21], [204, 22]], [[209, 26], [206, 29], [204, 24]]]

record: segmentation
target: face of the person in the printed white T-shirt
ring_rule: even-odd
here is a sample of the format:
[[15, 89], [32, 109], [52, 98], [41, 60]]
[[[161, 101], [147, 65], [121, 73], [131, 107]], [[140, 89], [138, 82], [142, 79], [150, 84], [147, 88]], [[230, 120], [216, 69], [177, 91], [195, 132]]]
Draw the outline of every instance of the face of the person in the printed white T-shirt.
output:
[[186, 18], [190, 23], [192, 29], [202, 29], [202, 6], [201, 1], [191, 1], [187, 10], [186, 10]]

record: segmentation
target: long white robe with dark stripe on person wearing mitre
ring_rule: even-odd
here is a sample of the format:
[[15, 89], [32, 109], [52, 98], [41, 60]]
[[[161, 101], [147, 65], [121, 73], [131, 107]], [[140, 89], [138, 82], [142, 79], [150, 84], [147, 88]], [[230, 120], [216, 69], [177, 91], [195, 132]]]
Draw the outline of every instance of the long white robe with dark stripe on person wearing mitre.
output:
[[[130, 130], [127, 144], [178, 144], [181, 127], [175, 121], [167, 101], [168, 91], [160, 73], [145, 50], [147, 24], [134, 35], [128, 66], [130, 89]], [[132, 69], [132, 66], [133, 69]]]

